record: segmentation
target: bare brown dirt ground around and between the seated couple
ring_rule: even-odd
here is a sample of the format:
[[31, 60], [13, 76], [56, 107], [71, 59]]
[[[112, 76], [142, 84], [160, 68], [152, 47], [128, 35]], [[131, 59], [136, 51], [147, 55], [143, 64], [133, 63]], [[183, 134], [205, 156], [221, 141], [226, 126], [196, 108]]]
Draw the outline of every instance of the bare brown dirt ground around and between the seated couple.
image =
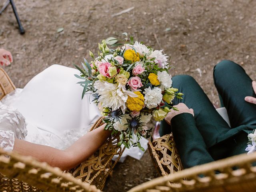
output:
[[[0, 7], [4, 3], [0, 0]], [[122, 32], [171, 56], [172, 75], [189, 74], [219, 105], [212, 70], [220, 60], [242, 65], [256, 79], [254, 0], [16, 0], [26, 34], [20, 35], [12, 9], [0, 15], [0, 47], [14, 63], [6, 71], [22, 88], [52, 64], [72, 67], [96, 54], [98, 42]], [[134, 7], [127, 13], [112, 16]], [[57, 32], [64, 28], [62, 32]], [[148, 152], [118, 164], [104, 191], [121, 192], [157, 176]]]

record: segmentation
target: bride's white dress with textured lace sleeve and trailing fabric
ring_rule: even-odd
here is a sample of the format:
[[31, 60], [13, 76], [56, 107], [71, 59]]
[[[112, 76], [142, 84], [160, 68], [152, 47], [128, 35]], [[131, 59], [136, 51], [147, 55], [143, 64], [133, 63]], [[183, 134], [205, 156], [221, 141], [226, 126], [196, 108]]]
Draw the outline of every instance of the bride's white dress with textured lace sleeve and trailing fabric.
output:
[[[14, 139], [64, 150], [86, 134], [100, 117], [92, 96], [86, 94], [74, 76], [80, 72], [54, 64], [32, 78], [23, 89], [16, 89], [0, 102], [0, 147], [12, 150]], [[26, 119], [26, 120], [25, 120]], [[26, 123], [25, 123], [26, 122]], [[147, 140], [141, 144], [147, 149]], [[126, 149], [127, 155], [140, 159], [139, 148]], [[115, 159], [116, 157], [114, 157]]]

